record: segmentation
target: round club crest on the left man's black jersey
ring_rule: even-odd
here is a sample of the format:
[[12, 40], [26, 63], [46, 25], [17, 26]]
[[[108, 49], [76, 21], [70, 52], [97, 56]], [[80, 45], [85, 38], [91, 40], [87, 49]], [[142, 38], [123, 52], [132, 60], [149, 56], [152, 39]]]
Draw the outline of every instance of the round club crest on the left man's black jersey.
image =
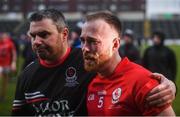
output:
[[74, 87], [79, 84], [76, 76], [76, 69], [74, 67], [69, 67], [66, 69], [66, 84], [67, 87]]

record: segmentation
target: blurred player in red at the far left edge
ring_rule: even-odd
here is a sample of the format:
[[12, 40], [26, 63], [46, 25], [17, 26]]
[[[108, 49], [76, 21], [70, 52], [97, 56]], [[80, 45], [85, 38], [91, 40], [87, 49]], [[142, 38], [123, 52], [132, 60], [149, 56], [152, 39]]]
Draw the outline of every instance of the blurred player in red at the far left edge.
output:
[[4, 100], [7, 92], [9, 75], [16, 71], [16, 48], [7, 33], [0, 34], [0, 100]]

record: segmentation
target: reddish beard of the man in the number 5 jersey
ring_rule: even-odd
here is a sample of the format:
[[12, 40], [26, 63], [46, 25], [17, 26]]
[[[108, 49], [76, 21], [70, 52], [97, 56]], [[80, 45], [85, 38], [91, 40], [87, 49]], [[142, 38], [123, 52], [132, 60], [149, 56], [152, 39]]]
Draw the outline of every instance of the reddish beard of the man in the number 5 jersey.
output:
[[106, 54], [85, 53], [84, 54], [85, 70], [97, 72], [109, 60], [110, 55], [111, 55], [110, 52], [106, 52]]

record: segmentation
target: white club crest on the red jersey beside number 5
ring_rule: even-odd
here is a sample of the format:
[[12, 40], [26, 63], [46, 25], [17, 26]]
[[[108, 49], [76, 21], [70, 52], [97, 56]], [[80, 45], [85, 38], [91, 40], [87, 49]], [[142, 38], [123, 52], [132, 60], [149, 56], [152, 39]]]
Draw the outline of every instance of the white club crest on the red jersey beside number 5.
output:
[[112, 103], [115, 104], [119, 101], [121, 96], [121, 88], [117, 88], [112, 92]]

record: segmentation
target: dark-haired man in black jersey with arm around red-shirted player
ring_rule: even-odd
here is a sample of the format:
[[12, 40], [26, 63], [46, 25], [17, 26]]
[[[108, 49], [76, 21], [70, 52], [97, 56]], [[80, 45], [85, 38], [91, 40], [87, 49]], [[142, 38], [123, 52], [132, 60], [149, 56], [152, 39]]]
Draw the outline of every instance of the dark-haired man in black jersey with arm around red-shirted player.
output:
[[[95, 73], [85, 71], [81, 49], [69, 47], [63, 14], [42, 10], [31, 14], [29, 21], [28, 35], [37, 59], [18, 78], [12, 115], [87, 115], [87, 87]], [[172, 102], [175, 88], [171, 84], [158, 85], [149, 94], [149, 102], [154, 106]], [[168, 97], [162, 100], [164, 96]]]

